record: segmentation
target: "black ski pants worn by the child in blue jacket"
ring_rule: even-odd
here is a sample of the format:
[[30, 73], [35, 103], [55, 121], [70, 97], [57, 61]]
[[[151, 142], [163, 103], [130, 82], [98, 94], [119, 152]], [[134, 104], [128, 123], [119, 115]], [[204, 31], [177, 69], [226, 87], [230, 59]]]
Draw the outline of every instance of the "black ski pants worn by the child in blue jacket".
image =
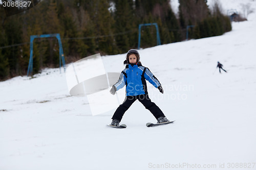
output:
[[142, 103], [142, 105], [144, 105], [144, 107], [147, 110], [149, 110], [156, 117], [156, 119], [165, 116], [162, 110], [155, 103], [151, 102], [150, 98], [148, 97], [148, 94], [140, 94], [136, 96], [126, 96], [123, 104], [121, 104], [116, 109], [112, 119], [117, 119], [121, 121], [125, 111], [128, 110], [137, 99], [139, 100], [140, 103]]

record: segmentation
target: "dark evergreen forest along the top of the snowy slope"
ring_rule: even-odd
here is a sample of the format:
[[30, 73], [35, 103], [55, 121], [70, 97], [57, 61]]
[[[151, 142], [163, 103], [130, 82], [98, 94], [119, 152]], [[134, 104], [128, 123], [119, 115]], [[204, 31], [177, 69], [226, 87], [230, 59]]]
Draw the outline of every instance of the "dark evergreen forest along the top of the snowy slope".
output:
[[[228, 16], [207, 0], [179, 0], [175, 15], [169, 0], [44, 0], [34, 8], [7, 17], [0, 5], [0, 81], [26, 75], [30, 36], [59, 33], [66, 63], [100, 53], [114, 55], [138, 46], [140, 23], [158, 24], [161, 44], [222, 35], [231, 30]], [[33, 74], [58, 67], [56, 38], [35, 39]], [[156, 28], [142, 27], [142, 48], [157, 44]]]

